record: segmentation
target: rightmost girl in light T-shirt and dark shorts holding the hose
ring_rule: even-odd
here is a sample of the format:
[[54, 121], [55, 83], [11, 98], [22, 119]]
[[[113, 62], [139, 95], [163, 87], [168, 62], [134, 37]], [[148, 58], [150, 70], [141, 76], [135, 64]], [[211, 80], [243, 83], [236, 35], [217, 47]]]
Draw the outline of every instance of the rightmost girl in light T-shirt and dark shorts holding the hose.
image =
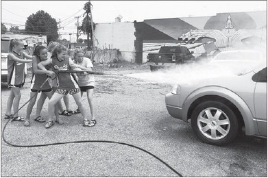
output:
[[[73, 53], [73, 57], [75, 64], [84, 66], [88, 68], [88, 70], [92, 71], [93, 64], [90, 61], [90, 59], [84, 58], [84, 52], [82, 50], [75, 50], [75, 52]], [[95, 86], [94, 76], [90, 74], [77, 74], [77, 77], [78, 77], [78, 84], [81, 90], [81, 97], [83, 96], [83, 92], [86, 92], [92, 120], [96, 123], [93, 108], [93, 90]], [[79, 112], [79, 108], [76, 111]]]

